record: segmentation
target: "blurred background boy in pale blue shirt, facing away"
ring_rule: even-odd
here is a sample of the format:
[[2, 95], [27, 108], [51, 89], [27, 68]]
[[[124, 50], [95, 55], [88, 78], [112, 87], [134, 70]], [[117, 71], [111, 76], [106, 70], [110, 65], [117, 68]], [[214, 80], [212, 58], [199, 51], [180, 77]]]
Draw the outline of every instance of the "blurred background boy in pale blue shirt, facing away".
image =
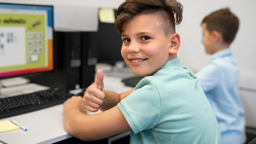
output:
[[246, 141], [244, 109], [239, 98], [239, 67], [232, 44], [239, 19], [228, 8], [212, 12], [202, 20], [202, 43], [212, 55], [197, 77], [211, 103], [221, 128], [223, 144]]

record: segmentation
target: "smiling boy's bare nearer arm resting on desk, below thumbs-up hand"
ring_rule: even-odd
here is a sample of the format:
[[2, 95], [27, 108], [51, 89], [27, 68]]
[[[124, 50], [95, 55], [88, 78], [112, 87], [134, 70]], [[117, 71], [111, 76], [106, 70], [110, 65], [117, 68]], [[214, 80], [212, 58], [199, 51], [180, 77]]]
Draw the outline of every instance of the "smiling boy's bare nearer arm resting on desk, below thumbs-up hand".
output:
[[130, 131], [118, 107], [96, 114], [82, 113], [78, 109], [65, 110], [64, 125], [66, 132], [82, 141], [95, 141]]

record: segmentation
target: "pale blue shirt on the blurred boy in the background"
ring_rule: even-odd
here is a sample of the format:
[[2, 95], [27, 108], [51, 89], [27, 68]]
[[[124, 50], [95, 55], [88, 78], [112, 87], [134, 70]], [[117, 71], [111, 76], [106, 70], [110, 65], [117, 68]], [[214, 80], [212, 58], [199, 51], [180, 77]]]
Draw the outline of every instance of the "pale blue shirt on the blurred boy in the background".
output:
[[216, 52], [197, 76], [215, 111], [222, 143], [244, 143], [245, 118], [239, 97], [239, 67], [230, 49]]

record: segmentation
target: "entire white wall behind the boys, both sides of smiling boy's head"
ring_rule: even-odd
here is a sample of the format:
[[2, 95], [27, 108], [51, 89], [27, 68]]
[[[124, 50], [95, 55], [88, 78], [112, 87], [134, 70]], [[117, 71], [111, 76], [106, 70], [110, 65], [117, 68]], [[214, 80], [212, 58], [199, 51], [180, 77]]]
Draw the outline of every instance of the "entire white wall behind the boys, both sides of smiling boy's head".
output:
[[[9, 3], [34, 3], [55, 6], [55, 30], [95, 31], [97, 30], [97, 9], [118, 8], [123, 0], [0, 0]], [[182, 45], [178, 56], [182, 63], [194, 71], [205, 66], [211, 56], [205, 54], [201, 44], [201, 20], [213, 10], [229, 7], [240, 19], [240, 28], [231, 45], [240, 66], [240, 96], [246, 110], [246, 123], [256, 127], [256, 1], [255, 0], [180, 0], [184, 6], [183, 21], [177, 26]], [[91, 10], [90, 10], [91, 9]], [[61, 17], [61, 18], [60, 18]], [[96, 18], [95, 18], [96, 17]], [[65, 20], [63, 20], [65, 19]], [[71, 20], [72, 23], [70, 22]], [[83, 19], [85, 19], [83, 21]], [[79, 21], [80, 25], [74, 24]], [[97, 19], [98, 20], [98, 19]], [[80, 29], [79, 29], [80, 28]]]

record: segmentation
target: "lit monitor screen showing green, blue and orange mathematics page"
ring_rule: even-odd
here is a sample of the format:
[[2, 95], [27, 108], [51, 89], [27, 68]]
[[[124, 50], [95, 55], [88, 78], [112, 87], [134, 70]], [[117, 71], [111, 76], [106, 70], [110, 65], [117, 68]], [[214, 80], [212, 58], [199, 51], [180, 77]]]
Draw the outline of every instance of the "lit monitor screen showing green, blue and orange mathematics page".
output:
[[54, 69], [54, 9], [0, 2], [0, 78]]

